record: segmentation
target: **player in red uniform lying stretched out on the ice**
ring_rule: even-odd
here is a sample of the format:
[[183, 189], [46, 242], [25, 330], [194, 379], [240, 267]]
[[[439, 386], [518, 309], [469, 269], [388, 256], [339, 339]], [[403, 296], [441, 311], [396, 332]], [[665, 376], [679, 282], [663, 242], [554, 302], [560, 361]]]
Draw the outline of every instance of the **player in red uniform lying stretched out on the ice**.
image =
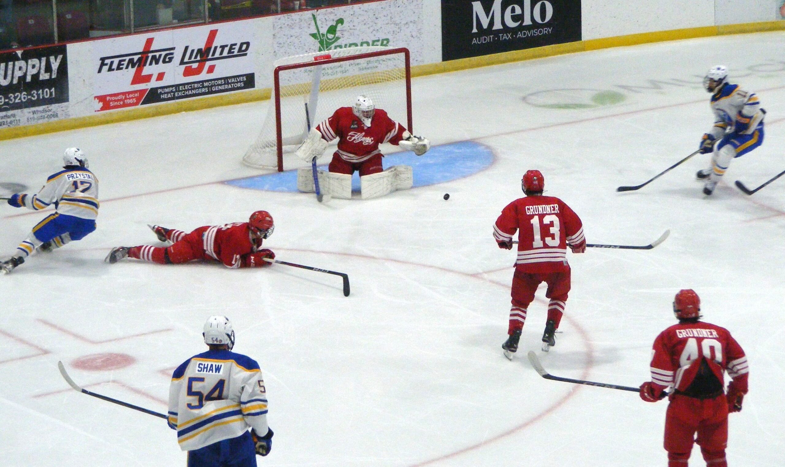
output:
[[265, 258], [276, 257], [272, 251], [261, 248], [261, 242], [272, 235], [275, 228], [272, 215], [267, 211], [254, 212], [246, 223], [203, 226], [190, 234], [161, 226], [150, 228], [160, 241], [170, 241], [172, 244], [169, 247], [115, 247], [107, 255], [106, 261], [114, 264], [123, 258], [134, 258], [159, 264], [180, 264], [203, 259], [237, 269], [266, 266], [269, 263]]

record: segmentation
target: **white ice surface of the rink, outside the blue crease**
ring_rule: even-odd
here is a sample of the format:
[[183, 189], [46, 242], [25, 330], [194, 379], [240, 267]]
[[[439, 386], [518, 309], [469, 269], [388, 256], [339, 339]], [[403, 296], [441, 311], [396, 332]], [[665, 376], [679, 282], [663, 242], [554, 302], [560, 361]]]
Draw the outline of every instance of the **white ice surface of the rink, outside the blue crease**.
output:
[[[728, 464], [783, 465], [785, 179], [751, 197], [732, 186], [785, 168], [783, 45], [783, 33], [747, 34], [415, 78], [414, 133], [435, 146], [473, 140], [495, 161], [372, 201], [319, 205], [222, 183], [259, 174], [239, 160], [266, 103], [0, 143], [0, 182], [31, 192], [65, 147], [81, 147], [102, 201], [96, 232], [0, 277], [0, 465], [184, 465], [162, 420], [75, 393], [57, 360], [87, 389], [165, 412], [170, 372], [203, 351], [202, 324], [217, 313], [265, 374], [276, 436], [260, 465], [665, 465], [665, 402], [547, 381], [525, 360], [539, 353], [544, 292], [520, 357], [502, 357], [514, 256], [491, 230], [528, 168], [581, 215], [590, 243], [671, 230], [651, 251], [569, 256], [564, 333], [540, 353], [546, 369], [639, 385], [652, 341], [674, 323], [674, 293], [695, 288], [750, 360]], [[700, 81], [717, 63], [769, 111], [763, 146], [733, 161], [710, 198], [694, 180], [707, 156], [616, 193], [697, 148], [712, 122]], [[279, 259], [349, 273], [352, 295], [338, 277], [280, 265], [102, 262], [112, 246], [157, 244], [148, 223], [190, 230], [257, 209], [276, 220], [265, 245]], [[0, 215], [5, 255], [44, 213]], [[82, 369], [105, 353], [134, 363], [104, 356], [87, 360], [115, 369]], [[697, 450], [692, 465], [703, 465]]]

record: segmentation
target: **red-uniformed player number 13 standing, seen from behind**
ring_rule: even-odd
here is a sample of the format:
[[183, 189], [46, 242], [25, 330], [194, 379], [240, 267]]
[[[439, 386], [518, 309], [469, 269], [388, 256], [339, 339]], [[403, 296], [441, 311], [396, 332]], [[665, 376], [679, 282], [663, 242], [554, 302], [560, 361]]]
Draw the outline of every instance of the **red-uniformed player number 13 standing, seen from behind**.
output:
[[567, 247], [573, 253], [586, 251], [583, 225], [577, 214], [557, 197], [543, 196], [545, 179], [539, 170], [530, 170], [520, 181], [526, 197], [518, 198], [503, 210], [494, 225], [498, 248], [513, 248], [513, 235], [518, 232], [518, 258], [513, 274], [513, 305], [509, 310], [509, 337], [502, 344], [505, 357], [513, 359], [518, 349], [528, 306], [542, 282], [548, 284], [545, 296], [550, 299], [542, 350], [556, 345], [567, 294], [570, 291], [570, 265]]

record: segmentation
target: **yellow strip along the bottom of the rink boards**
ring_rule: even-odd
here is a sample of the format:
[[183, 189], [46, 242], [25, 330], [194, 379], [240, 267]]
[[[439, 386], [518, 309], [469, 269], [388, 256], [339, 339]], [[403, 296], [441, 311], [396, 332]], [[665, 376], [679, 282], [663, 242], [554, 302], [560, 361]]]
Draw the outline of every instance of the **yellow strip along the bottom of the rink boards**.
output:
[[[470, 68], [489, 67], [501, 63], [533, 60], [546, 56], [557, 56], [565, 53], [586, 52], [588, 50], [626, 47], [629, 45], [649, 44], [652, 42], [678, 41], [681, 39], [706, 38], [727, 34], [750, 34], [766, 31], [785, 30], [785, 20], [762, 21], [758, 23], [725, 24], [721, 26], [689, 27], [670, 31], [653, 31], [640, 34], [627, 34], [612, 38], [588, 39], [586, 41], [568, 42], [567, 44], [546, 45], [535, 49], [514, 50], [512, 52], [495, 53], [486, 56], [475, 56], [447, 62], [429, 63], [411, 67], [411, 76], [427, 76], [429, 74], [448, 73], [451, 71], [468, 70]], [[254, 89], [251, 91], [232, 92], [219, 96], [203, 97], [192, 100], [181, 100], [173, 103], [161, 103], [128, 110], [107, 110], [85, 117], [64, 118], [36, 125], [25, 125], [0, 129], [0, 140], [37, 136], [45, 133], [63, 132], [82, 129], [90, 126], [108, 125], [121, 121], [138, 120], [141, 118], [160, 117], [192, 110], [204, 110], [212, 107], [250, 103], [270, 99], [270, 89]]]

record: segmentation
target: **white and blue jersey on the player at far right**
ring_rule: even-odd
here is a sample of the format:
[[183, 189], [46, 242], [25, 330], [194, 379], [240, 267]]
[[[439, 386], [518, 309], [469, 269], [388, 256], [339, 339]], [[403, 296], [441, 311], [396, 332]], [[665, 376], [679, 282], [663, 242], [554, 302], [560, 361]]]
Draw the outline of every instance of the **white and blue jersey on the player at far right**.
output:
[[714, 127], [709, 134], [715, 139], [731, 132], [750, 135], [762, 125], [765, 115], [757, 94], [729, 83], [711, 96], [711, 110], [714, 111]]

